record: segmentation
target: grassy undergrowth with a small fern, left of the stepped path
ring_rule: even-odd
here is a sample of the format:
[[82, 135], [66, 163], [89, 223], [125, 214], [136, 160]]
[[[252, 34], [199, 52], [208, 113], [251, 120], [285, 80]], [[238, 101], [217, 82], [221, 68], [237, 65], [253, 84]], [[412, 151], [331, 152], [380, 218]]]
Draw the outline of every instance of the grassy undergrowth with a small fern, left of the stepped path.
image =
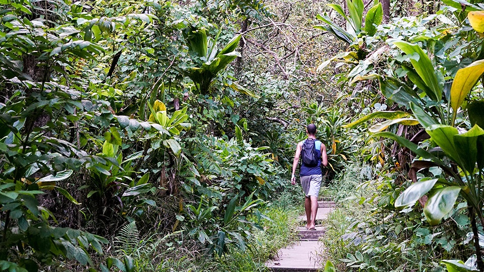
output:
[[120, 229], [113, 254], [120, 259], [125, 255], [133, 258], [138, 271], [267, 271], [266, 260], [296, 238], [299, 196], [297, 187], [288, 188], [261, 211], [268, 219], [260, 222], [263, 230], [251, 229], [245, 251], [232, 246], [221, 257], [213, 256], [194, 240], [186, 240], [183, 232], [138, 238], [133, 222]]

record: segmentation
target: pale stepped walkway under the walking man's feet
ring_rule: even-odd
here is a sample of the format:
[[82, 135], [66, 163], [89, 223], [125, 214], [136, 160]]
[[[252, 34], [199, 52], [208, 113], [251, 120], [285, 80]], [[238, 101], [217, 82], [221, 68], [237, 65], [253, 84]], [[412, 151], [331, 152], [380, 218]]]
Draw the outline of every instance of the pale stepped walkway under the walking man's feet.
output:
[[[327, 218], [335, 207], [333, 201], [318, 201], [318, 213], [316, 221]], [[301, 222], [306, 222], [306, 216], [300, 216]], [[324, 250], [319, 238], [324, 235], [326, 229], [317, 225], [316, 230], [307, 230], [305, 227], [297, 228], [299, 241], [285, 248], [279, 249], [273, 260], [268, 260], [266, 266], [272, 271], [317, 271], [323, 267], [321, 253]]]

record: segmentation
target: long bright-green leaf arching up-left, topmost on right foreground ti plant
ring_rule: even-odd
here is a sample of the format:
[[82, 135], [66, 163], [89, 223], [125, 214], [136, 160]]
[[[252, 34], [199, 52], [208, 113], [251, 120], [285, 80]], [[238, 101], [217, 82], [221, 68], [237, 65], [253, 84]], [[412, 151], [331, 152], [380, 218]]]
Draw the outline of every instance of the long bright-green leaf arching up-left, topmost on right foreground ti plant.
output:
[[[410, 58], [413, 69], [417, 72], [422, 81], [429, 87], [431, 92], [426, 93], [432, 100], [440, 101], [442, 99], [442, 88], [439, 86], [437, 75], [435, 74], [434, 65], [429, 56], [423, 52], [422, 48], [416, 44], [406, 41], [389, 39], [389, 44], [394, 44], [400, 50], [405, 52]], [[425, 91], [425, 90], [424, 90]]]

